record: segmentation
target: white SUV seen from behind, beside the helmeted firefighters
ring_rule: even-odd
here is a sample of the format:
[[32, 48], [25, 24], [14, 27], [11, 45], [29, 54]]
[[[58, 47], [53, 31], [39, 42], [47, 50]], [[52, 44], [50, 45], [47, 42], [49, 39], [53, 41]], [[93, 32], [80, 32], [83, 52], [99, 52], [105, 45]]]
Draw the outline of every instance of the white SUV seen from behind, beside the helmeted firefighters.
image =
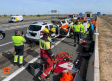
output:
[[[58, 26], [52, 23], [34, 22], [27, 28], [26, 38], [32, 41], [39, 41], [43, 37], [42, 30], [44, 28], [48, 28], [49, 30], [56, 28], [58, 31]], [[52, 36], [56, 36], [56, 34], [54, 33]]]

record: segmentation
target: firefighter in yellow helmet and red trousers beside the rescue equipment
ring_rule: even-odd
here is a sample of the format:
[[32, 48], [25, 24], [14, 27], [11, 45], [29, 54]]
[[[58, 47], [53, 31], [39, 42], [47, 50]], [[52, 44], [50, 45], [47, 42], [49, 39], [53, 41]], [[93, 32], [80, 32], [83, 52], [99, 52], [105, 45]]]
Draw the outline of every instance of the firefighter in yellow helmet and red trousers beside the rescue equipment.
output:
[[55, 56], [50, 48], [50, 41], [48, 40], [49, 30], [44, 28], [42, 32], [43, 37], [39, 40], [40, 57], [46, 64], [48, 64], [48, 67], [40, 76], [38, 76], [40, 81], [44, 81], [44, 78], [49, 77], [48, 75], [50, 75], [50, 71], [53, 69], [53, 62], [51, 61], [51, 58], [55, 59]]

